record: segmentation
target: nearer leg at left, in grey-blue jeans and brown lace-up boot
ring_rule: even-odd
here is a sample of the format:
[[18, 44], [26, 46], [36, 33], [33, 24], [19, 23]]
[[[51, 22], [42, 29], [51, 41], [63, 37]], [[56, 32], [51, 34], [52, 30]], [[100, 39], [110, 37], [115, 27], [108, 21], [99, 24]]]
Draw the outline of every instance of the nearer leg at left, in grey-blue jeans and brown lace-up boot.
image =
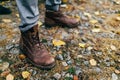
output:
[[37, 21], [39, 19], [38, 0], [16, 0], [21, 18], [20, 49], [28, 59], [41, 69], [51, 69], [54, 58], [39, 40]]

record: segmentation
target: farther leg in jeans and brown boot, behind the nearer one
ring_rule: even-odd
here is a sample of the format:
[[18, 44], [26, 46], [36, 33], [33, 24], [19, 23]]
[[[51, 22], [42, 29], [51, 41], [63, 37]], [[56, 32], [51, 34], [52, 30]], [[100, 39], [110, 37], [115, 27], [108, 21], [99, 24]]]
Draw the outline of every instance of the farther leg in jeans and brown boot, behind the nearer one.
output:
[[46, 0], [46, 17], [45, 25], [54, 26], [62, 25], [69, 28], [77, 27], [79, 20], [69, 18], [60, 11], [61, 0]]

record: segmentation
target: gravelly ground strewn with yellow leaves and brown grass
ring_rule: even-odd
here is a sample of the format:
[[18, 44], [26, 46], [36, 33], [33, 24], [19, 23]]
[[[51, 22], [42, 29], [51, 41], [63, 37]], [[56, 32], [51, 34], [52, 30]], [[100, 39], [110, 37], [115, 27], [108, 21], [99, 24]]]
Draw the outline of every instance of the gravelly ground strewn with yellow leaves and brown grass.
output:
[[19, 51], [15, 1], [0, 4], [12, 10], [0, 15], [0, 80], [120, 80], [119, 0], [69, 0], [61, 10], [80, 20], [77, 28], [46, 28], [39, 4], [40, 40], [56, 58], [49, 71], [34, 67]]

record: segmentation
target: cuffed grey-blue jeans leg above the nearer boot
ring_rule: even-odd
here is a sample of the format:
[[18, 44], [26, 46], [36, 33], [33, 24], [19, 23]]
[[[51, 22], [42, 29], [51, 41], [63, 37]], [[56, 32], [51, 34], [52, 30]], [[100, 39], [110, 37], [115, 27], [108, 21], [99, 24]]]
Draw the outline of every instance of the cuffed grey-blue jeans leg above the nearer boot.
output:
[[29, 30], [37, 24], [39, 19], [38, 0], [16, 0], [19, 10], [22, 32]]

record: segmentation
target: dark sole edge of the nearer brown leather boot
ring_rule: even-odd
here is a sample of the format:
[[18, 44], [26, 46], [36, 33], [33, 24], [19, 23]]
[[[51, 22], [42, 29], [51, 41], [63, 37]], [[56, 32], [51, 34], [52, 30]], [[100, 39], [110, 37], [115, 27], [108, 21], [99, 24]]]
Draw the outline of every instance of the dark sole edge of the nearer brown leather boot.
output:
[[[25, 55], [25, 51], [20, 48], [20, 51]], [[35, 64], [31, 59], [27, 58], [27, 61], [30, 62], [33, 66], [40, 68], [41, 70], [51, 70], [53, 67], [55, 67], [55, 62], [47, 65], [47, 66], [42, 66], [42, 65], [37, 65]]]

